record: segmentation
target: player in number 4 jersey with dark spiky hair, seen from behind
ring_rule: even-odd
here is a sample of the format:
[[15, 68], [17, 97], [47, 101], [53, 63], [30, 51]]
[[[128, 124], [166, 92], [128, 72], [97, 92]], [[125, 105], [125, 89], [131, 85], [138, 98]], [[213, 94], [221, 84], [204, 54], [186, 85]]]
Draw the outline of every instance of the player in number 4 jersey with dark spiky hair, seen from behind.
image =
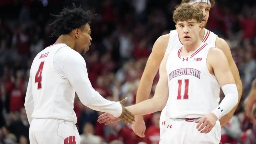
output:
[[121, 102], [104, 99], [92, 88], [86, 64], [80, 54], [89, 50], [90, 21], [96, 15], [80, 7], [64, 8], [52, 23], [55, 44], [46, 47], [33, 60], [25, 98], [30, 123], [29, 138], [32, 144], [79, 144], [75, 126], [74, 96], [96, 111], [108, 112], [124, 123], [134, 121]]

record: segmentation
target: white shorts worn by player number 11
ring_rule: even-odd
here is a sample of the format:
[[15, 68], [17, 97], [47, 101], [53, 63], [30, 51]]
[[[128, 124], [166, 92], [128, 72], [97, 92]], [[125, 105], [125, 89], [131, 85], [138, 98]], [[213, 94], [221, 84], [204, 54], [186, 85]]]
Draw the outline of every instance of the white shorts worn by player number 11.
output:
[[160, 135], [160, 144], [220, 144], [221, 125], [219, 120], [207, 134], [197, 130], [196, 120], [169, 118]]

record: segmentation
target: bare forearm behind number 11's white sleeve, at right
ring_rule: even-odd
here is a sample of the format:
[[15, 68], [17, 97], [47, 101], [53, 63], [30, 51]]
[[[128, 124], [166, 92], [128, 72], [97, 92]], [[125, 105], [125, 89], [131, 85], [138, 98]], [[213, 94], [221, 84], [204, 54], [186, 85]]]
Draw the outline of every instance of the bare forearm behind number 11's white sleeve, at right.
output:
[[235, 113], [235, 111], [237, 109], [237, 106], [238, 106], [238, 104], [240, 102], [240, 99], [241, 99], [241, 96], [242, 96], [242, 91], [243, 91], [241, 80], [237, 80], [236, 81], [236, 85], [237, 85], [237, 91], [238, 91], [238, 102], [237, 102], [237, 105], [229, 113], [227, 113], [226, 115], [224, 115], [224, 116], [222, 116], [220, 118], [221, 126], [226, 125], [231, 120], [231, 118], [234, 115], [234, 113]]

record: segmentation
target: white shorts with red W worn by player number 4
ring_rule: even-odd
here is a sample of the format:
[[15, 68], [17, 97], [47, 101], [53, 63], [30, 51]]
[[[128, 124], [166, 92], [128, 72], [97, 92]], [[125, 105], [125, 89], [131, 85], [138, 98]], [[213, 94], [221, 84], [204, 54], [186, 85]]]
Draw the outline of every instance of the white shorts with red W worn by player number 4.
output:
[[79, 144], [80, 136], [73, 122], [61, 119], [33, 119], [29, 128], [31, 144]]

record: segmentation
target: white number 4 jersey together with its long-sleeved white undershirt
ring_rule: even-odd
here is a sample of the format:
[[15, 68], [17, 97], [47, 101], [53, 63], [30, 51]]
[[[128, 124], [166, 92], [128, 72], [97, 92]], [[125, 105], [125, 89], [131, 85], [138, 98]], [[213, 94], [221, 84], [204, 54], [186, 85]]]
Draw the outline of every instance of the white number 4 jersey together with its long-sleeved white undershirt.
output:
[[33, 60], [25, 99], [28, 120], [55, 118], [77, 122], [75, 92], [91, 109], [118, 117], [119, 102], [104, 99], [92, 88], [83, 57], [64, 43], [48, 46]]

